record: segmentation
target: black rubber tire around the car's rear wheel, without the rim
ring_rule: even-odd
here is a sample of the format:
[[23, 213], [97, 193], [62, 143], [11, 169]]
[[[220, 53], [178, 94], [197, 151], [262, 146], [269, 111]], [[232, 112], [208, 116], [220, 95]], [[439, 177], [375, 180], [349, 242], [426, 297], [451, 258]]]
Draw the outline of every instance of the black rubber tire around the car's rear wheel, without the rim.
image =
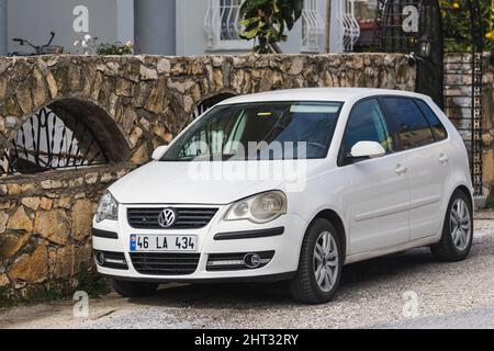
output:
[[[467, 210], [470, 217], [470, 234], [468, 235], [467, 246], [464, 248], [459, 248], [453, 242], [452, 234], [451, 234], [451, 208], [457, 203], [457, 201], [463, 201], [467, 205]], [[472, 239], [473, 239], [473, 213], [472, 213], [472, 204], [471, 199], [469, 199], [464, 192], [457, 190], [452, 195], [451, 200], [448, 204], [448, 210], [445, 216], [445, 223], [442, 226], [442, 236], [441, 240], [430, 246], [430, 251], [436, 260], [442, 262], [458, 262], [464, 260], [472, 248]]]

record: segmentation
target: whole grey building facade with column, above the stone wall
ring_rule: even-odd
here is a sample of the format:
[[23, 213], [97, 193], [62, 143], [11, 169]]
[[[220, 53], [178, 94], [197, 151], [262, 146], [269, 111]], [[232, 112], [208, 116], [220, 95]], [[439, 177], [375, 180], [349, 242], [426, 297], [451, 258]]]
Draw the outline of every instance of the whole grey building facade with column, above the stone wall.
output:
[[[337, 0], [332, 0], [335, 3]], [[2, 3], [8, 3], [8, 52], [25, 52], [12, 42], [14, 37], [32, 43], [45, 44], [49, 32], [54, 31], [55, 45], [64, 46], [72, 53], [72, 43], [86, 34], [100, 38], [102, 43], [135, 42], [136, 53], [158, 55], [204, 55], [248, 53], [254, 42], [242, 49], [210, 50], [204, 31], [206, 0], [0, 0], [0, 24]], [[74, 22], [78, 5], [88, 9], [87, 32], [77, 32]], [[317, 0], [321, 18], [325, 21], [326, 0]], [[338, 22], [332, 14], [332, 52], [341, 52], [337, 45]], [[7, 53], [2, 46], [0, 25], [0, 55]], [[4, 42], [4, 39], [3, 39]], [[319, 37], [319, 52], [325, 49], [324, 35]], [[281, 43], [283, 53], [301, 53], [302, 19], [288, 33], [288, 42]]]

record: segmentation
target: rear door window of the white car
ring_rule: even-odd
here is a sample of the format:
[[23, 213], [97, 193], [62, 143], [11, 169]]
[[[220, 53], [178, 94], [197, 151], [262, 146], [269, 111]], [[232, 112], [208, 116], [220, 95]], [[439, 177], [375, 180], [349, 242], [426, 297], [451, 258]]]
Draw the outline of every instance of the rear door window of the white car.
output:
[[434, 141], [429, 123], [412, 99], [383, 98], [392, 115], [403, 148], [409, 149]]

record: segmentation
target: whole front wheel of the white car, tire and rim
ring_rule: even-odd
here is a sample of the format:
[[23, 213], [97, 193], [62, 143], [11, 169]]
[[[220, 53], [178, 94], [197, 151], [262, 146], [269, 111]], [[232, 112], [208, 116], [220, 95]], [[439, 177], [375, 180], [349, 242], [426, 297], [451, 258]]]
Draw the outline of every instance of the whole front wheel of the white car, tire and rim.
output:
[[295, 301], [323, 304], [333, 299], [341, 276], [343, 252], [338, 233], [324, 218], [315, 219], [305, 234], [290, 291]]

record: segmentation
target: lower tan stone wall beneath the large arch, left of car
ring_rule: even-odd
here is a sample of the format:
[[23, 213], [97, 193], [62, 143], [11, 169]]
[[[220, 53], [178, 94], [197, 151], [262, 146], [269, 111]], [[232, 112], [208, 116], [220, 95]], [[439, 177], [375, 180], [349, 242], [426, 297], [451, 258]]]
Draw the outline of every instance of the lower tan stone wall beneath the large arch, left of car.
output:
[[133, 166], [11, 177], [0, 184], [0, 305], [77, 288], [91, 265], [91, 220], [111, 182]]

